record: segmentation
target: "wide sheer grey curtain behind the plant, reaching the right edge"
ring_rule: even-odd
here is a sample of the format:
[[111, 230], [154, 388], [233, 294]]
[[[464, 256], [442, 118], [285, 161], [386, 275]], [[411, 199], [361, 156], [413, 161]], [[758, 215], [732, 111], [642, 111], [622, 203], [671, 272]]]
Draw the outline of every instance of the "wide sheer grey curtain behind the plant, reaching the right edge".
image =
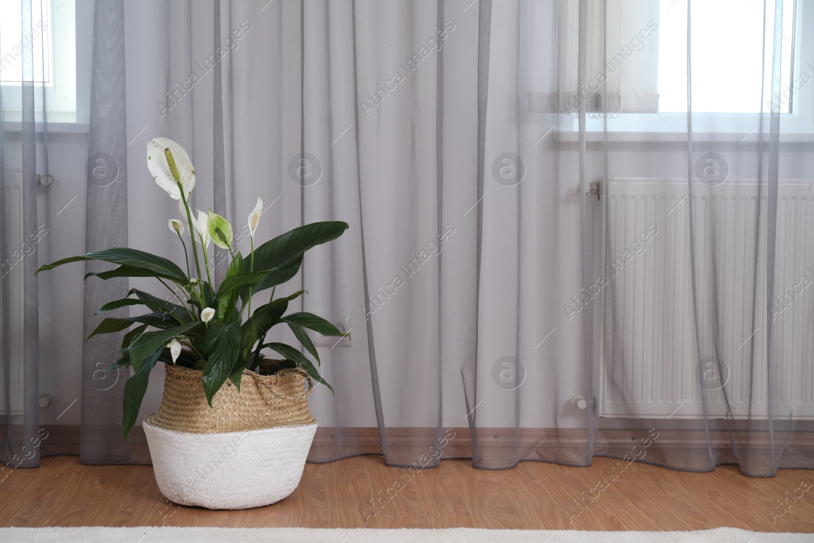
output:
[[[261, 195], [259, 239], [347, 221], [287, 286], [352, 335], [320, 346], [336, 392], [310, 396], [315, 462], [814, 466], [811, 121], [784, 132], [789, 2], [759, 14], [768, 85], [742, 133], [693, 110], [694, 2], [671, 7], [686, 61], [658, 67], [684, 74], [686, 109], [659, 110], [641, 67], [679, 38], [638, 4], [622, 27], [589, 0], [98, 4], [89, 151], [120, 177], [89, 186], [88, 248], [179, 256], [144, 164], [156, 136], [190, 151], [195, 207], [239, 228]], [[108, 288], [125, 286], [88, 283], [85, 314]], [[83, 461], [140, 462], [119, 388], [90, 391], [106, 349], [85, 348]]]

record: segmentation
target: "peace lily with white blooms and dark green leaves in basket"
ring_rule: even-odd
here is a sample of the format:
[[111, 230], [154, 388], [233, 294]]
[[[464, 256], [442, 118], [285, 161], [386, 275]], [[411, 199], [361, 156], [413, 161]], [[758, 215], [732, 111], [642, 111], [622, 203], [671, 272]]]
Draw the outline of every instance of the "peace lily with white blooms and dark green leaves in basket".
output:
[[[85, 279], [91, 275], [106, 280], [151, 277], [172, 293], [171, 296], [161, 298], [133, 288], [125, 298], [104, 304], [95, 313], [131, 305], [147, 306], [151, 311], [138, 317], [104, 318], [88, 336], [90, 339], [97, 334], [112, 334], [130, 329], [122, 340], [121, 349], [117, 351], [121, 357], [108, 368], [113, 370], [133, 367], [133, 375], [125, 383], [122, 419], [125, 439], [136, 422], [139, 407], [147, 391], [150, 371], [158, 361], [204, 370], [204, 392], [210, 407], [212, 396], [215, 396], [227, 379], [239, 389], [243, 370], [258, 369], [264, 348], [282, 356], [282, 360], [276, 361], [266, 373], [299, 367], [313, 380], [330, 388], [300, 348], [278, 342], [266, 343], [265, 339], [273, 326], [287, 325], [318, 365], [319, 353], [305, 330], [316, 331], [321, 335], [343, 335], [336, 326], [312, 313], [286, 314], [289, 302], [301, 296], [304, 291], [274, 298], [274, 290], [277, 285], [295, 276], [305, 251], [337, 239], [348, 229], [348, 224], [341, 221], [315, 222], [255, 247], [255, 231], [263, 210], [263, 201], [258, 198], [247, 222], [251, 252], [243, 256], [234, 247], [234, 234], [229, 221], [212, 212], [212, 209], [208, 212], [196, 210], [197, 215], [193, 215], [189, 197], [195, 188], [195, 168], [183, 147], [166, 138], [155, 138], [147, 144], [147, 168], [169, 197], [178, 200], [182, 219], [169, 219], [168, 227], [181, 240], [186, 273], [173, 261], [128, 247], [72, 256], [37, 269], [38, 274], [69, 262], [105, 261], [118, 266], [108, 271], [87, 274]], [[189, 229], [186, 228], [185, 221]], [[191, 247], [186, 245], [187, 231]], [[225, 249], [231, 258], [225, 278], [217, 289], [212, 282], [209, 266], [208, 249], [211, 243]], [[194, 267], [190, 267], [190, 248]], [[272, 289], [269, 302], [256, 307], [252, 312], [252, 296], [268, 288]], [[173, 297], [179, 303], [170, 301]]]

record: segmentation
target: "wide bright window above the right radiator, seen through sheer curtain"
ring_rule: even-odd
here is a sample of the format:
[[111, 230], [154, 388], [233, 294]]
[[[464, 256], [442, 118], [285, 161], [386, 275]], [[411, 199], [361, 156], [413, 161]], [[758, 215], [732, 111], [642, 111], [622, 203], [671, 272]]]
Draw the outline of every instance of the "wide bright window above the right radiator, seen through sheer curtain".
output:
[[[755, 141], [761, 105], [768, 119], [776, 2], [693, 0], [692, 123], [698, 137]], [[618, 141], [683, 141], [687, 0], [589, 0], [586, 5], [584, 38], [575, 31], [577, 0], [532, 2], [528, 10], [530, 120], [543, 119], [538, 113], [559, 113], [557, 137], [575, 139], [576, 112], [584, 105], [589, 132], [606, 130]], [[812, 141], [814, 33], [805, 29], [814, 28], [814, 2], [784, 0], [781, 23], [783, 138]], [[587, 73], [578, 89], [580, 44]]]

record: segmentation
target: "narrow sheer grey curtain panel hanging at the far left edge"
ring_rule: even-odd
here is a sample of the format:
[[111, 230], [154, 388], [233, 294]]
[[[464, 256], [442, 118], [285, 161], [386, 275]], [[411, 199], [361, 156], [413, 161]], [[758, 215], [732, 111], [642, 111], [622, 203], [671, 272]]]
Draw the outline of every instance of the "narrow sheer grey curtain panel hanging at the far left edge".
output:
[[[38, 426], [39, 315], [33, 275], [42, 234], [37, 228], [37, 154], [47, 142], [44, 64], [34, 58], [35, 42], [42, 41], [34, 33], [36, 4], [20, 2], [19, 54], [11, 61], [16, 68], [20, 60], [20, 72], [7, 71], [4, 57], [7, 85], [0, 86], [0, 462], [5, 464], [0, 480], [13, 468], [37, 466], [47, 436]], [[41, 173], [47, 173], [47, 159], [41, 157], [40, 164], [45, 165]]]

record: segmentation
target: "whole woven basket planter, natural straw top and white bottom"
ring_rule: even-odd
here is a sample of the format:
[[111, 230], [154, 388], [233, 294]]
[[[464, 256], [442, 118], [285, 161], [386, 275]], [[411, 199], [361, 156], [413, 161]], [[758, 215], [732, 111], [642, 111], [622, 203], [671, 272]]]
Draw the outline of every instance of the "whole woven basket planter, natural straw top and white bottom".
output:
[[210, 408], [202, 370], [166, 370], [160, 408], [144, 421], [164, 497], [186, 506], [247, 509], [294, 491], [317, 431], [302, 371], [244, 371], [240, 392], [227, 381]]

